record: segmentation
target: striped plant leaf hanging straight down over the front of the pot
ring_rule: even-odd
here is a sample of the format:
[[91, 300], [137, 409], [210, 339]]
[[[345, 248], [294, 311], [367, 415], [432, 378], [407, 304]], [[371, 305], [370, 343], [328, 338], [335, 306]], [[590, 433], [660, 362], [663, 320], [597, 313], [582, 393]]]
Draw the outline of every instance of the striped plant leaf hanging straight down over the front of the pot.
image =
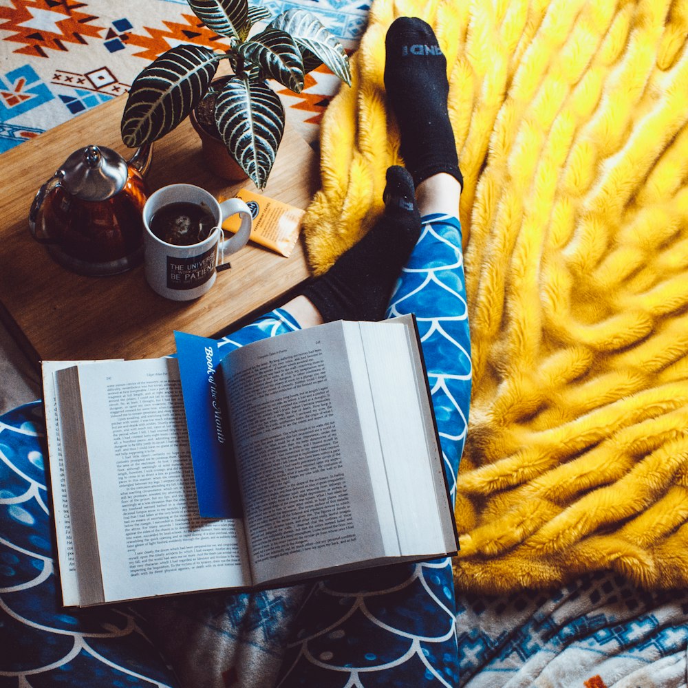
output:
[[215, 124], [241, 169], [264, 189], [284, 132], [279, 96], [266, 83], [235, 77], [217, 96]]

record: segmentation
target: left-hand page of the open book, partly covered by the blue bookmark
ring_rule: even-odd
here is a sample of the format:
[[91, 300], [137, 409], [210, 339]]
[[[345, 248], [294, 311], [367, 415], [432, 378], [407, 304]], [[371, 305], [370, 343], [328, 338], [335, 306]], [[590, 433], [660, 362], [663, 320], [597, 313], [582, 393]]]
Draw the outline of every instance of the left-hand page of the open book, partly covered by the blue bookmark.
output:
[[105, 601], [250, 584], [243, 528], [197, 500], [177, 362], [79, 368]]

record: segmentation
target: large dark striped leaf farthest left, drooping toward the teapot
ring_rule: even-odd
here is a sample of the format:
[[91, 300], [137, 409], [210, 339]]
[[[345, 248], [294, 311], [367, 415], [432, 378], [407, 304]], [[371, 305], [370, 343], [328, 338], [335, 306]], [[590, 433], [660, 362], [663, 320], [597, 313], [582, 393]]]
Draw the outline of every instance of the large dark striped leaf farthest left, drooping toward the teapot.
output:
[[208, 90], [219, 56], [202, 45], [177, 45], [134, 79], [122, 114], [122, 141], [131, 148], [177, 127]]

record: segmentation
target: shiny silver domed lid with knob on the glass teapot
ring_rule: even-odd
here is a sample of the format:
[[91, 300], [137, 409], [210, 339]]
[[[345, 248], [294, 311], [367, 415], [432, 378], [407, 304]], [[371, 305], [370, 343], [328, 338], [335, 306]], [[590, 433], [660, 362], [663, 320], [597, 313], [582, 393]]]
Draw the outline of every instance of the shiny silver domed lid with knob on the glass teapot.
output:
[[63, 187], [84, 201], [104, 201], [124, 189], [129, 166], [122, 156], [105, 146], [74, 151], [62, 165]]

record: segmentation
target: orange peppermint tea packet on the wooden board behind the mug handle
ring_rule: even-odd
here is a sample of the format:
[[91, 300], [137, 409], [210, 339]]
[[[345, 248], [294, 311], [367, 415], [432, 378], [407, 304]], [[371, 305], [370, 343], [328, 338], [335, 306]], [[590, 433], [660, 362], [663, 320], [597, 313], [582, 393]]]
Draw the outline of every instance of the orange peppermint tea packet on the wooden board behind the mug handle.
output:
[[[305, 211], [248, 189], [239, 190], [236, 197], [246, 203], [253, 216], [250, 241], [290, 257], [299, 239], [301, 219]], [[224, 200], [220, 199], [221, 202]], [[237, 233], [239, 215], [228, 217], [222, 223], [222, 228]]]

